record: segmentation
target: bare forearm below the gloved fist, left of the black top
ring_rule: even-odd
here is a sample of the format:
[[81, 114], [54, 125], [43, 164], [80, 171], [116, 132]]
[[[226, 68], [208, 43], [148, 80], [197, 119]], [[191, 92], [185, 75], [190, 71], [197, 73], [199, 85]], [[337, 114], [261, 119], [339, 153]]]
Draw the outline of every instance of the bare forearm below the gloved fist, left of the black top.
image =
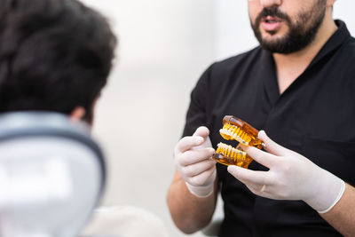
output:
[[171, 217], [184, 233], [194, 233], [209, 224], [217, 199], [217, 181], [214, 193], [205, 198], [191, 194], [185, 180], [176, 174], [167, 195]]

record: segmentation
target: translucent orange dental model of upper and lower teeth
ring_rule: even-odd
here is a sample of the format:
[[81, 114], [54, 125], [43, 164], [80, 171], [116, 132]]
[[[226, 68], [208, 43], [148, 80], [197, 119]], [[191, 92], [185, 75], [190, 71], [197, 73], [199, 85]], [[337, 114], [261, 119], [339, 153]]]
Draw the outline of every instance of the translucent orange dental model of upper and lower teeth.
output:
[[[255, 146], [261, 149], [264, 143], [257, 138], [258, 130], [253, 128], [247, 122], [242, 121], [232, 115], [226, 115], [223, 119], [223, 128], [219, 133], [226, 140], [236, 140], [245, 146]], [[212, 158], [225, 165], [238, 165], [243, 168], [248, 168], [253, 159], [246, 152], [239, 149], [239, 146], [233, 147], [224, 143], [219, 143], [217, 151]]]

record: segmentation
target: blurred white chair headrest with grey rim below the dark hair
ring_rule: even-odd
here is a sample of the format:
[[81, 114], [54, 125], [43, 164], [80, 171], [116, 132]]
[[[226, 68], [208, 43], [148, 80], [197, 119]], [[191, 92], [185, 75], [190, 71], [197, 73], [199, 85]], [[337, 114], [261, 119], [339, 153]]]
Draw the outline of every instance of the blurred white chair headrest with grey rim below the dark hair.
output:
[[66, 115], [0, 114], [0, 236], [74, 237], [105, 185], [104, 155]]

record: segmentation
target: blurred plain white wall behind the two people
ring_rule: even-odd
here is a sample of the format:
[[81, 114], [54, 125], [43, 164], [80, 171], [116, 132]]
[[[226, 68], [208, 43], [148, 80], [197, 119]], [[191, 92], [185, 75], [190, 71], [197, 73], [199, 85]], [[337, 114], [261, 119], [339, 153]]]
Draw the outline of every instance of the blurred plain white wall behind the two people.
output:
[[[103, 204], [146, 209], [162, 218], [171, 236], [185, 236], [172, 224], [165, 201], [173, 147], [202, 71], [257, 45], [247, 0], [83, 2], [108, 17], [120, 41], [94, 123], [108, 163]], [[345, 20], [353, 35], [354, 6], [353, 0], [335, 4], [335, 17]]]

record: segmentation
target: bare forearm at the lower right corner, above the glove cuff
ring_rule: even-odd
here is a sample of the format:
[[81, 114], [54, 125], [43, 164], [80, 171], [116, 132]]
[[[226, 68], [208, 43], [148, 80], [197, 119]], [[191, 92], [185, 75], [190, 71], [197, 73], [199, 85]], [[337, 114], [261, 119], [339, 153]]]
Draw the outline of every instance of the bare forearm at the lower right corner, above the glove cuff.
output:
[[346, 184], [342, 198], [333, 209], [321, 214], [330, 225], [344, 236], [355, 236], [355, 188]]

